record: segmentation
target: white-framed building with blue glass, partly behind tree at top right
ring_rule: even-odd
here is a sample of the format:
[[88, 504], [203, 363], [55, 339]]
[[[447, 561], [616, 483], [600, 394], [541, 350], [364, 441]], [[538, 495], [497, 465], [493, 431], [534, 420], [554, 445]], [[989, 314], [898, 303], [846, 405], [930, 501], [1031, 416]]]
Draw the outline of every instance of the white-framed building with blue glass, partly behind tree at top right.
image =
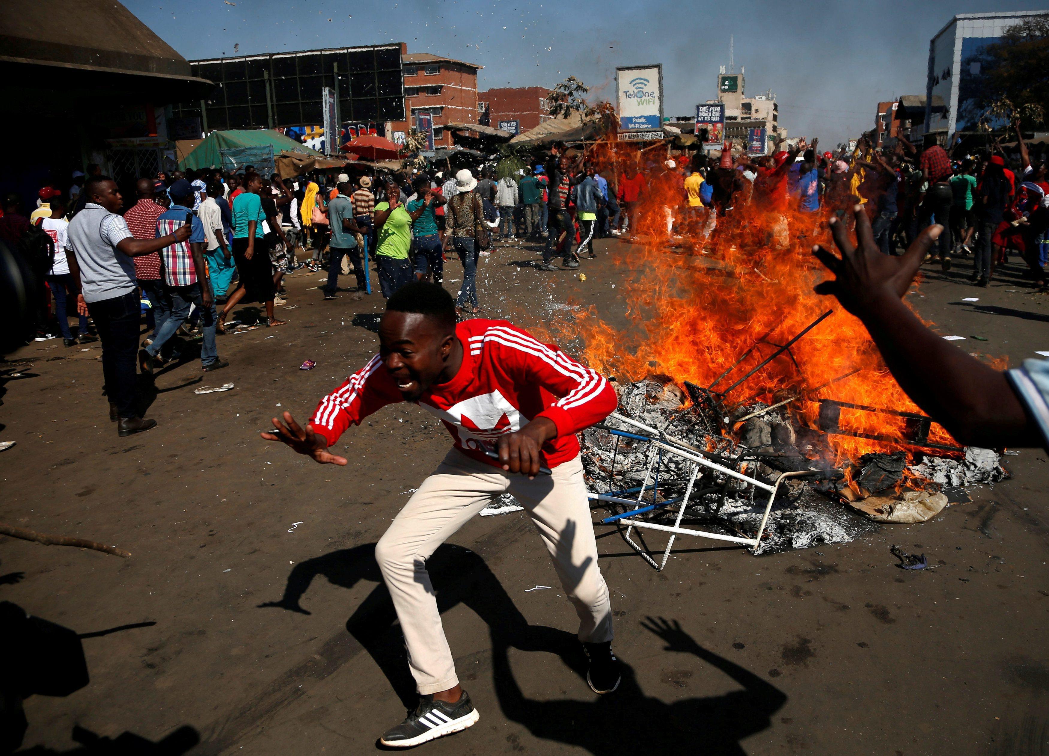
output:
[[993, 44], [1009, 26], [1033, 16], [1049, 16], [1047, 10], [959, 14], [928, 45], [928, 79], [925, 102], [942, 98], [945, 107], [925, 110], [925, 133], [938, 134], [946, 143], [956, 131], [972, 131], [981, 112], [972, 99], [980, 87], [979, 61], [973, 60], [984, 47]]

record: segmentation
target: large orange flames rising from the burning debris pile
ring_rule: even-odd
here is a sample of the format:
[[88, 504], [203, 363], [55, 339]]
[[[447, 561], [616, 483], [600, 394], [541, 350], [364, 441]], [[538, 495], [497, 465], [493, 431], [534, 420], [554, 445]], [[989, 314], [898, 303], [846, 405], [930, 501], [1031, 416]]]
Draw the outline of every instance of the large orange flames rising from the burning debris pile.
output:
[[[592, 159], [608, 167], [606, 175], [612, 175], [614, 154], [607, 146], [598, 148]], [[659, 166], [663, 157], [652, 155], [651, 159]], [[718, 218], [718, 228], [706, 243], [700, 228], [688, 228], [685, 218], [676, 218], [685, 239], [675, 240], [668, 229], [668, 208], [678, 212], [681, 190], [667, 177], [646, 178], [649, 190], [640, 203], [639, 228], [634, 230], [642, 240], [635, 241], [629, 254], [616, 256], [623, 268], [620, 285], [625, 289], [630, 328], [624, 332], [614, 327], [593, 308], [579, 312], [574, 323], [562, 324], [569, 326], [566, 334], [582, 337], [583, 354], [591, 366], [620, 381], [663, 373], [679, 385], [688, 381], [702, 387], [729, 370], [714, 387], [724, 391], [777, 346], [833, 309], [790, 353], [780, 354], [729, 392], [725, 405], [775, 404], [795, 397], [786, 407], [799, 426], [813, 429], [819, 428], [819, 399], [920, 413], [890, 374], [860, 321], [833, 299], [812, 290], [827, 278], [810, 250], [816, 241], [830, 245], [829, 211], [804, 213], [793, 202], [761, 208], [737, 194], [735, 208]], [[683, 254], [671, 249], [672, 243], [684, 244]], [[921, 446], [906, 433], [914, 422], [842, 407], [839, 429], [878, 438], [828, 435], [828, 456], [837, 466], [872, 451], [902, 449], [909, 454]], [[936, 424], [928, 428], [926, 438], [932, 444], [957, 446]]]

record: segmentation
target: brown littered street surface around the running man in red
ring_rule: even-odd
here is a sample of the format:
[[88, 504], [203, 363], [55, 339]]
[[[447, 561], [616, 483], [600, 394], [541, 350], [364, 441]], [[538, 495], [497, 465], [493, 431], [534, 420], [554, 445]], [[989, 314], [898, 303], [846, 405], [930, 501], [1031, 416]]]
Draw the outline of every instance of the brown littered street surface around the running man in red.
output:
[[[616, 322], [613, 259], [630, 247], [598, 250], [585, 281], [515, 264], [533, 247], [496, 250], [479, 266], [487, 315], [535, 326], [571, 300]], [[1018, 285], [1018, 268], [986, 289], [967, 272], [930, 272], [917, 295], [940, 332], [1011, 365], [1049, 350], [1049, 299]], [[456, 288], [459, 264], [446, 276]], [[364, 326], [382, 298], [322, 302], [319, 279], [287, 281], [286, 326], [220, 338], [230, 368], [160, 371], [147, 394], [159, 426], [141, 435], [108, 420], [98, 344], [35, 343], [8, 355], [31, 363], [0, 365], [0, 440], [17, 441], [0, 454], [0, 521], [132, 553], [0, 537], [0, 601], [83, 633], [90, 674], [64, 697], [26, 699], [24, 753], [358, 754], [403, 717], [411, 681], [372, 549], [448, 440], [408, 405], [343, 437], [346, 468], [258, 438], [283, 409], [306, 418], [377, 346]], [[1049, 753], [1049, 473], [1041, 450], [1007, 460], [1014, 477], [971, 503], [837, 546], [755, 558], [679, 538], [657, 573], [599, 525], [626, 665], [604, 697], [581, 676], [574, 612], [528, 518], [475, 518], [431, 570], [480, 721], [423, 748]], [[894, 543], [936, 568], [898, 569]]]

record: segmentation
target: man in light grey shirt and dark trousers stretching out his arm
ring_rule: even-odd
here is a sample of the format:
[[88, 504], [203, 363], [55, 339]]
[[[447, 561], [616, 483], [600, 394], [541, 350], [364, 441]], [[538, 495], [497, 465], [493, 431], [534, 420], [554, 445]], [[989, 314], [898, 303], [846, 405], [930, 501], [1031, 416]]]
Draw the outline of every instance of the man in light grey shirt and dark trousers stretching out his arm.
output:
[[133, 257], [149, 255], [190, 237], [190, 226], [158, 239], [135, 239], [117, 211], [124, 207], [116, 182], [91, 176], [84, 183], [87, 202], [69, 222], [66, 252], [80, 294], [77, 309], [91, 315], [102, 339], [102, 373], [109, 396], [109, 419], [122, 436], [148, 431], [156, 420], [137, 413], [135, 353], [140, 303]]

